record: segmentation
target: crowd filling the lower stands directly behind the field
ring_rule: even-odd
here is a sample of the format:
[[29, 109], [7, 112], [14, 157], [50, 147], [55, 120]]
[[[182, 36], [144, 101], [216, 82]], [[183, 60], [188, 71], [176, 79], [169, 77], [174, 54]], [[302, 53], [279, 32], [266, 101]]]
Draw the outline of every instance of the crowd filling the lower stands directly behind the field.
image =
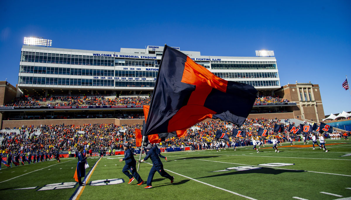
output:
[[[247, 137], [237, 138], [230, 137], [227, 141], [227, 147], [232, 147], [234, 144], [239, 146], [250, 145], [252, 135], [257, 134], [259, 127], [269, 130], [269, 136], [262, 138], [263, 141], [271, 140], [276, 136], [281, 142], [287, 142], [287, 135], [290, 135], [294, 141], [298, 141], [300, 135], [291, 134], [285, 129], [284, 133], [273, 133], [274, 124], [285, 122], [281, 120], [272, 119], [247, 119], [241, 130], [246, 131]], [[19, 129], [18, 135], [13, 133], [5, 133], [4, 139], [1, 141], [0, 149], [6, 152], [18, 152], [25, 149], [27, 151], [74, 151], [77, 145], [85, 145], [88, 149], [108, 150], [117, 149], [122, 150], [123, 142], [131, 142], [135, 145], [135, 128], [141, 129], [142, 124], [122, 124], [117, 126], [115, 124], [84, 124], [83, 126], [74, 126], [72, 124], [52, 124], [34, 126], [17, 127]], [[215, 133], [220, 130], [231, 135], [232, 128], [237, 128], [230, 122], [224, 121], [206, 121], [197, 123], [194, 127], [187, 129], [187, 134], [184, 137], [167, 138], [161, 142], [161, 147], [180, 147], [192, 146], [194, 150], [201, 148], [208, 148], [210, 144], [216, 141]], [[15, 128], [15, 127], [14, 127]], [[8, 130], [9, 128], [5, 128]], [[33, 134], [40, 132], [39, 136]], [[341, 133], [340, 135], [343, 135]], [[350, 133], [347, 133], [350, 135]], [[308, 134], [305, 134], [309, 137]], [[330, 138], [329, 134], [325, 135]]]

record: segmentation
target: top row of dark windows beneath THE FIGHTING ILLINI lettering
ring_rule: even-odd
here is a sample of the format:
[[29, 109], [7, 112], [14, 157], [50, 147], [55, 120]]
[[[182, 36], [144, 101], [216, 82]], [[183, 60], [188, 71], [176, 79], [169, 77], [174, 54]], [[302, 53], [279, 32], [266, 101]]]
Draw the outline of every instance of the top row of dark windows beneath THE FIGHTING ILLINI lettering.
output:
[[261, 69], [277, 69], [276, 64], [231, 64], [231, 63], [211, 63], [211, 69], [213, 70], [224, 70], [224, 69], [250, 69], [250, 70], [261, 70]]

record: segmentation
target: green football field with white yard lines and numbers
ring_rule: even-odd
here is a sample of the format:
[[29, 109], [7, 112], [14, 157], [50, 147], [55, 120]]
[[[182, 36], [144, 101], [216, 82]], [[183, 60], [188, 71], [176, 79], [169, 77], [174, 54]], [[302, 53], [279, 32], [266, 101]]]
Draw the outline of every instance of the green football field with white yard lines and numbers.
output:
[[[327, 140], [329, 152], [312, 145], [282, 143], [260, 152], [250, 147], [162, 153], [174, 183], [155, 173], [152, 188], [137, 185], [122, 173], [122, 155], [88, 158], [87, 186], [73, 175], [77, 159], [64, 158], [12, 168], [2, 165], [2, 198], [25, 199], [351, 199], [351, 143]], [[136, 159], [139, 158], [139, 155]], [[144, 158], [144, 156], [142, 156]], [[150, 159], [140, 164], [146, 182]]]

